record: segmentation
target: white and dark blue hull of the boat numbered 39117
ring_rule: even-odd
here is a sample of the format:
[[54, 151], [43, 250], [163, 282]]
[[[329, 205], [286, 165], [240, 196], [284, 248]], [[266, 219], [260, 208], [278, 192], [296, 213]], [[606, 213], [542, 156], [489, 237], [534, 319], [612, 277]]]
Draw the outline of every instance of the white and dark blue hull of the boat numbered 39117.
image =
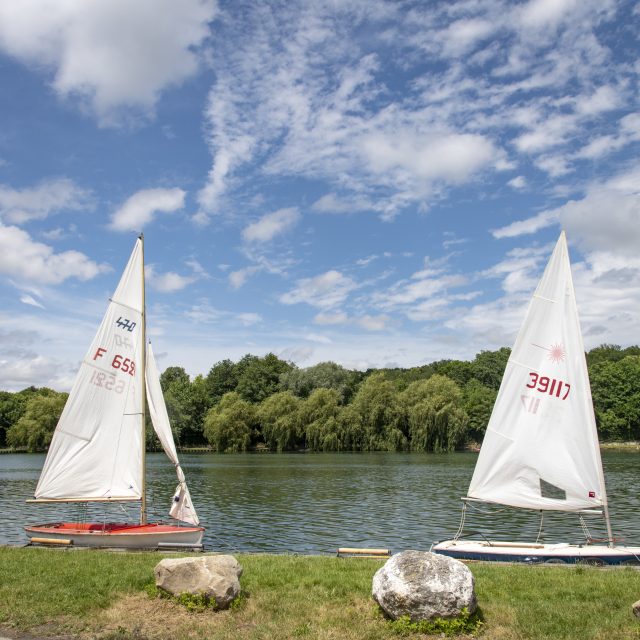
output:
[[535, 544], [487, 540], [445, 540], [433, 545], [434, 553], [460, 560], [549, 564], [640, 565], [640, 547], [604, 545]]

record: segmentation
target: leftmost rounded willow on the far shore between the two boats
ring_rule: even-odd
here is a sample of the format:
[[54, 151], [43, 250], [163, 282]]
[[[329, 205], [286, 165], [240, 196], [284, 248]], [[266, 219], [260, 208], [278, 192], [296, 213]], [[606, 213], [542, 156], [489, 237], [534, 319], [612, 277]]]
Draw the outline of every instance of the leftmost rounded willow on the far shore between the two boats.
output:
[[232, 391], [207, 413], [204, 435], [216, 451], [237, 453], [249, 449], [255, 427], [255, 406]]

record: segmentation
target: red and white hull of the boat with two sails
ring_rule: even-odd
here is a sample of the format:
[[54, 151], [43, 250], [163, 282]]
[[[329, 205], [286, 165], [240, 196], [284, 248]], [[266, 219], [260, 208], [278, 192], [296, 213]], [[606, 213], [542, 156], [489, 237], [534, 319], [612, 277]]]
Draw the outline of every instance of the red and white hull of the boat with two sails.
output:
[[157, 549], [159, 546], [202, 545], [202, 527], [178, 527], [174, 525], [78, 525], [52, 523], [25, 527], [34, 543], [67, 545], [74, 547]]

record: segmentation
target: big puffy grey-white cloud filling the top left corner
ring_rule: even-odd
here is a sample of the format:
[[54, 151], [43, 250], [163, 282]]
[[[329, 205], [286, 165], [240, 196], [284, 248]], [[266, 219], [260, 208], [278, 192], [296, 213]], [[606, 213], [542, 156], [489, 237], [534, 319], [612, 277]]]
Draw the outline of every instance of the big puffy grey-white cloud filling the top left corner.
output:
[[216, 15], [214, 0], [21, 0], [0, 4], [0, 49], [53, 72], [62, 97], [78, 97], [105, 125], [193, 76]]

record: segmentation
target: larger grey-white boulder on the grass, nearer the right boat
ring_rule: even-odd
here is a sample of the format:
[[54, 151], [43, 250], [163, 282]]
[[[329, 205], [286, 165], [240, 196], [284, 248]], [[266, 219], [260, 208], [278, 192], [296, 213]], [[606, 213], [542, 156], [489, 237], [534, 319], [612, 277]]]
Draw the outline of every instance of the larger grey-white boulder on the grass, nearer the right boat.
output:
[[477, 607], [473, 574], [458, 560], [425, 551], [392, 556], [373, 576], [372, 595], [394, 620], [456, 618]]

